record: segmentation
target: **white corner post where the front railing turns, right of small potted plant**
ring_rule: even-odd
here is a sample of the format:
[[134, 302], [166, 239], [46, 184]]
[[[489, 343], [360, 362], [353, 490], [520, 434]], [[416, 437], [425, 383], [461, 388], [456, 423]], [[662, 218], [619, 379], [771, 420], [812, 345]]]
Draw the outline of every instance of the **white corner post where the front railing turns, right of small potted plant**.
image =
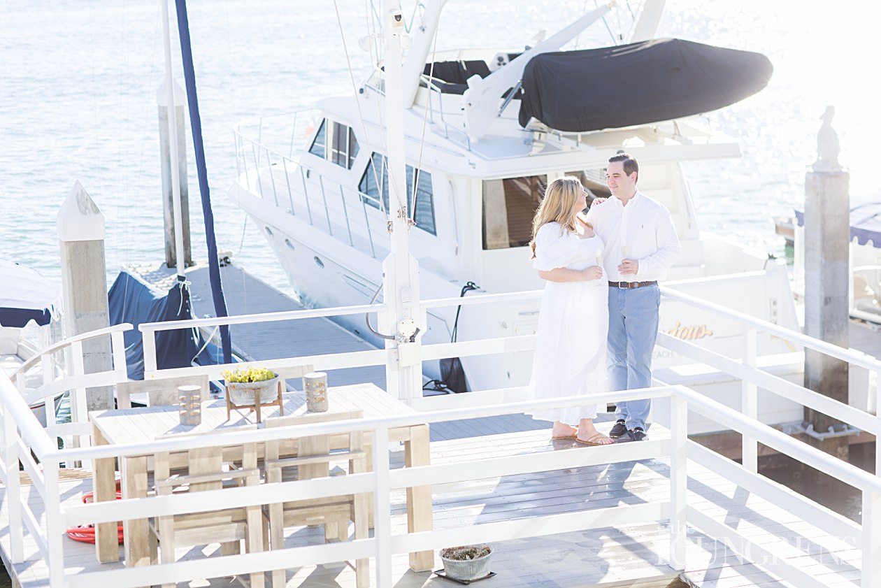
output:
[[670, 567], [685, 570], [685, 494], [688, 489], [688, 403], [670, 394]]

